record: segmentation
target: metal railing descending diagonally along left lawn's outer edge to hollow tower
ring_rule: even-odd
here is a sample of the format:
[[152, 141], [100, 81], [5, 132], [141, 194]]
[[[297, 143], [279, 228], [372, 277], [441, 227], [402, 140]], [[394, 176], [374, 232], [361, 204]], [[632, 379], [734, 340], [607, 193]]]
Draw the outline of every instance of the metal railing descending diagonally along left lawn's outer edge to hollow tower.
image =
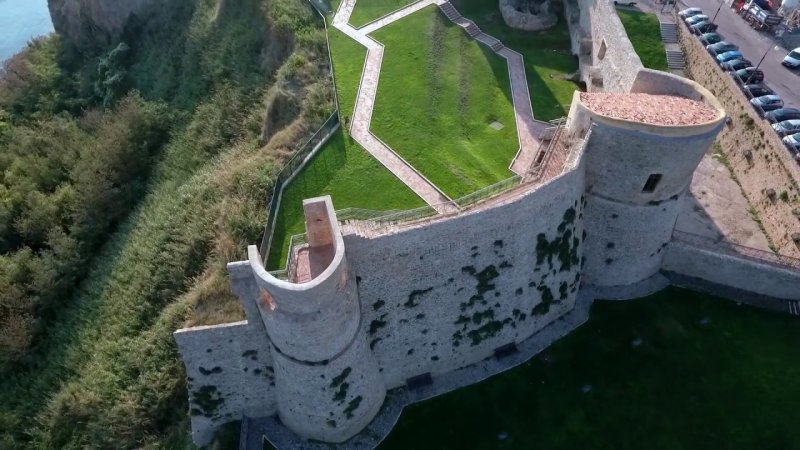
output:
[[272, 190], [272, 196], [269, 199], [267, 206], [267, 224], [264, 226], [264, 237], [261, 239], [261, 259], [266, 264], [267, 256], [269, 255], [270, 248], [272, 247], [272, 238], [275, 232], [275, 224], [278, 220], [278, 209], [281, 205], [281, 198], [283, 197], [283, 190], [286, 185], [305, 167], [308, 161], [317, 154], [319, 149], [322, 148], [328, 139], [339, 128], [339, 114], [338, 111], [331, 114], [328, 120], [311, 136], [305, 143], [295, 151], [294, 156], [286, 163], [281, 169], [278, 177], [275, 179], [275, 187]]

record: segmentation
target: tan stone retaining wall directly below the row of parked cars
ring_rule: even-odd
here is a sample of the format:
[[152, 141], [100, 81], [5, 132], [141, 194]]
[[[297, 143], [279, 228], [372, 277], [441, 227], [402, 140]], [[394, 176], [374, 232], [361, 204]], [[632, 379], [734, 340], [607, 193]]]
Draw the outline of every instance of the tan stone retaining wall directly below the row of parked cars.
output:
[[[774, 249], [800, 256], [800, 249], [791, 239], [792, 233], [800, 231], [798, 217], [792, 214], [794, 208], [800, 207], [800, 166], [769, 123], [758, 116], [733, 78], [716, 64], [685, 25], [680, 23], [679, 30], [687, 74], [716, 95], [730, 118], [730, 124], [717, 138], [718, 151], [724, 155], [722, 162], [733, 172]], [[775, 198], [769, 198], [769, 189], [775, 191]]]

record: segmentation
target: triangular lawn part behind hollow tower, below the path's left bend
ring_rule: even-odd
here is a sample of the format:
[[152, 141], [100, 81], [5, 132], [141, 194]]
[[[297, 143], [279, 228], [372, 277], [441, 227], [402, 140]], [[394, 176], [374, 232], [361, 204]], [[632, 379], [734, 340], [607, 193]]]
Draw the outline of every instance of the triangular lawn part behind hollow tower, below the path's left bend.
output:
[[330, 195], [336, 209], [378, 211], [424, 206], [411, 189], [341, 129], [283, 192], [268, 268], [284, 267], [289, 238], [305, 233], [303, 200]]

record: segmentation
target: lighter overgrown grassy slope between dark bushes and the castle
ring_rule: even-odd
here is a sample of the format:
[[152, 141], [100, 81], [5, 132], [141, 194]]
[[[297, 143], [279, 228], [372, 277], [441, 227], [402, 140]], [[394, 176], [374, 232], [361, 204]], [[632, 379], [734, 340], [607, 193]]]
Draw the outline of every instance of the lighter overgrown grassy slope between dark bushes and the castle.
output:
[[[309, 86], [305, 76], [319, 83], [309, 89], [330, 87], [323, 74], [306, 66], [300, 66], [299, 75], [292, 67], [277, 75], [265, 71], [260, 64], [264, 54], [251, 52], [249, 40], [253, 21], [267, 23], [262, 2], [239, 2], [234, 12], [240, 15], [230, 22], [227, 15], [217, 17], [216, 26], [205, 30], [200, 28], [214, 5], [197, 5], [199, 23], [179, 30], [174, 36], [184, 40], [179, 46], [222, 51], [239, 64], [208, 68], [233, 74], [180, 70], [179, 78], [187, 85], [208, 85], [216, 84], [219, 75], [238, 87], [220, 83], [217, 94], [192, 89], [173, 97], [199, 107], [187, 112], [186, 126], [175, 130], [153, 168], [147, 195], [98, 251], [75, 295], [64, 298], [58, 320], [48, 324], [36, 353], [0, 376], [0, 448], [194, 448], [172, 332], [199, 305], [233, 305], [236, 311], [230, 314], [241, 314], [229, 292], [225, 263], [245, 257], [245, 245], [263, 230], [264, 193], [277, 166], [273, 155], [281, 154], [285, 142], [310, 134], [302, 124], [293, 124], [282, 135], [283, 143], [273, 145], [275, 137], [262, 147], [268, 83], [274, 79], [285, 86], [289, 78], [295, 87]], [[273, 23], [281, 19], [280, 25], [302, 40], [295, 55], [314, 56], [308, 49], [321, 44], [320, 37], [324, 43], [324, 34], [307, 3], [285, 0], [271, 6], [281, 8], [267, 8]], [[282, 37], [269, 39], [281, 45]], [[160, 62], [138, 61], [153, 66], [153, 72], [163, 68]], [[225, 60], [218, 63], [225, 65]], [[144, 66], [137, 70], [148, 72]], [[250, 77], [251, 82], [243, 82]], [[158, 90], [145, 89], [156, 97]], [[309, 107], [328, 109], [320, 98]], [[311, 121], [310, 128], [319, 117], [309, 113], [303, 119]]]

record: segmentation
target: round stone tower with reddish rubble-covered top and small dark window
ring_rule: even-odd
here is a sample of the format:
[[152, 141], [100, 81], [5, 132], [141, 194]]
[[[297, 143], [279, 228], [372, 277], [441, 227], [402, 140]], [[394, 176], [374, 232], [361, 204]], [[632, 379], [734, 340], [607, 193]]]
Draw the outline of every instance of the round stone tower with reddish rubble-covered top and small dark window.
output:
[[591, 129], [584, 280], [627, 285], [658, 272], [682, 197], [724, 120], [710, 92], [665, 72], [640, 71], [628, 94], [576, 93], [568, 132]]

